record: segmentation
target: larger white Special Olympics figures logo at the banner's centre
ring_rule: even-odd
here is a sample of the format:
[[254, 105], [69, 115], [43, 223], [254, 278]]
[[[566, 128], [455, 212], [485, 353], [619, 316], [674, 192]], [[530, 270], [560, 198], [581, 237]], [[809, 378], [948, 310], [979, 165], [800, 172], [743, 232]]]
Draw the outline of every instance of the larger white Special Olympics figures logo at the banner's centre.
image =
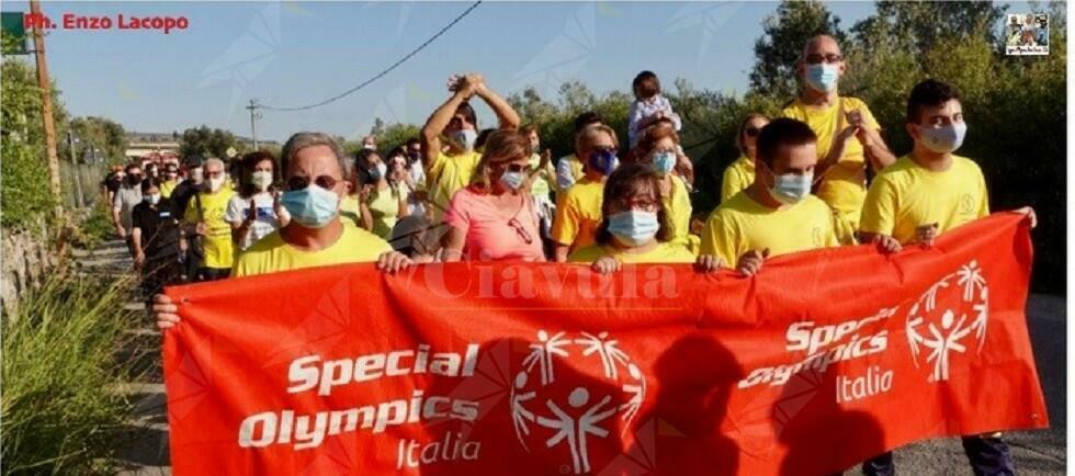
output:
[[[541, 438], [546, 449], [566, 444], [574, 473], [589, 473], [588, 441], [608, 438], [616, 418], [622, 421], [622, 431], [630, 428], [646, 400], [646, 376], [618, 344], [608, 332], [568, 336], [538, 331], [538, 340], [529, 345], [510, 394], [516, 437], [528, 452], [528, 437]], [[591, 385], [572, 378], [557, 381], [557, 365], [572, 361], [581, 367], [586, 360], [597, 361], [590, 362], [595, 367], [599, 363], [600, 382], [591, 381]], [[564, 473], [566, 468], [565, 465]]]

